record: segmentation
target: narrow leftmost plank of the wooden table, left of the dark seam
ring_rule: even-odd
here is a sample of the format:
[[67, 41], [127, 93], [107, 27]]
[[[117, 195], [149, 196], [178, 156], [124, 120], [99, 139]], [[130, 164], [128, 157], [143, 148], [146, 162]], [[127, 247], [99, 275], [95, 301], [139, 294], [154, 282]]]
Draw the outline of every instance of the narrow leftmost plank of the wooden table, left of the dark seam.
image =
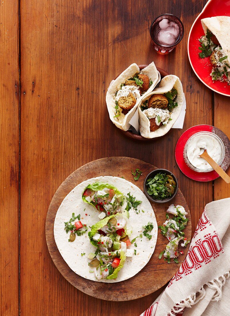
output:
[[0, 315], [19, 311], [18, 2], [0, 3]]

